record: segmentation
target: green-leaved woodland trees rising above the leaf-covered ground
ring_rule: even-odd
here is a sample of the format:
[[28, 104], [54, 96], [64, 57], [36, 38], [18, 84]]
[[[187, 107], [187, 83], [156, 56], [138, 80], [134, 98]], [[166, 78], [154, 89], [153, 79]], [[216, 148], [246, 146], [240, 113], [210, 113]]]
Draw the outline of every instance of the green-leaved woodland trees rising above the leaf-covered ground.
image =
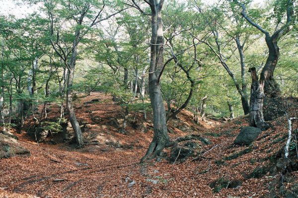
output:
[[[141, 122], [137, 130], [153, 133], [146, 153], [138, 154], [142, 163], [161, 161], [164, 149], [184, 141], [209, 145], [207, 136], [196, 135], [202, 129], [180, 127], [182, 136], [173, 139], [176, 120], [215, 127], [243, 118], [243, 126], [257, 130], [247, 132], [257, 134], [254, 141], [258, 130], [274, 131], [284, 116], [285, 159], [297, 150], [296, 0], [18, 3], [38, 11], [0, 16], [1, 141], [15, 144], [10, 139], [24, 132], [38, 145], [60, 134], [78, 149], [98, 145], [84, 135], [90, 123], [82, 121], [82, 112], [89, 106], [85, 112], [92, 114], [98, 103], [113, 111], [112, 100], [118, 106], [110, 118], [117, 119], [109, 125], [117, 133], [131, 136]], [[92, 122], [102, 126], [102, 115], [93, 115]], [[2, 157], [10, 157], [1, 144]], [[287, 169], [292, 161], [282, 163]]]

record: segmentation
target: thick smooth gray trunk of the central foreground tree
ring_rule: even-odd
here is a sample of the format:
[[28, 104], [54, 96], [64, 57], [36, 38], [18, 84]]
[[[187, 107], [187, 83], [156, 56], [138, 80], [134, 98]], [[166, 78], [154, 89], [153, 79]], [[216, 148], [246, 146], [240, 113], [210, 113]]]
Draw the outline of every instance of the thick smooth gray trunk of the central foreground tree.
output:
[[150, 68], [149, 68], [149, 96], [153, 111], [153, 139], [149, 145], [146, 155], [141, 162], [149, 158], [158, 157], [167, 146], [169, 137], [166, 127], [165, 108], [161, 96], [159, 74], [163, 67], [163, 24], [161, 20], [161, 9], [163, 0], [156, 3], [150, 0], [151, 8], [151, 45], [150, 45]]

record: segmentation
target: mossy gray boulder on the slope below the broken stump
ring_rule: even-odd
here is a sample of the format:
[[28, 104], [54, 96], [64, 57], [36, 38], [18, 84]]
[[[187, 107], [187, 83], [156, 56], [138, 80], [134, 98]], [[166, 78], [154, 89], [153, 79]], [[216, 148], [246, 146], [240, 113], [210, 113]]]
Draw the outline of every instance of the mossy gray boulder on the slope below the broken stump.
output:
[[262, 130], [256, 127], [244, 127], [234, 140], [234, 145], [250, 145], [262, 133]]

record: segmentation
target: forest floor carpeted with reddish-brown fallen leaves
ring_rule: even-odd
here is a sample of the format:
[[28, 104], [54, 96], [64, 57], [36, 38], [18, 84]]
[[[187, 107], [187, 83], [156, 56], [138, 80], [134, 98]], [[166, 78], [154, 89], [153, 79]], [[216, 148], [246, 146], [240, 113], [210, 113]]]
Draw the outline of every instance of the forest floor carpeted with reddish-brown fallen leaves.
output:
[[[83, 104], [91, 99], [99, 101]], [[0, 159], [0, 198], [260, 198], [268, 195], [275, 178], [260, 170], [270, 166], [270, 158], [283, 148], [288, 135], [287, 119], [280, 117], [272, 122], [275, 129], [264, 131], [252, 146], [234, 147], [240, 129], [248, 125], [247, 118], [225, 123], [206, 119], [197, 125], [191, 113], [183, 111], [179, 120], [169, 123], [170, 137], [198, 134], [212, 144], [195, 141], [196, 156], [182, 163], [162, 159], [140, 165], [153, 134], [152, 124], [142, 119], [142, 113], [132, 113], [135, 122], [130, 122], [127, 134], [121, 134], [111, 123], [124, 110], [110, 96], [92, 93], [77, 100], [76, 106], [78, 120], [88, 123], [84, 137], [96, 139], [98, 145], [76, 149], [59, 136], [53, 138], [56, 145], [38, 145], [26, 135], [27, 123], [15, 135], [31, 153]], [[53, 107], [49, 116], [58, 115], [59, 109]], [[134, 127], [136, 121], [149, 126], [149, 131]], [[286, 190], [298, 183], [298, 171], [288, 178]], [[228, 183], [211, 188], [218, 179]], [[231, 188], [235, 182], [239, 185]]]

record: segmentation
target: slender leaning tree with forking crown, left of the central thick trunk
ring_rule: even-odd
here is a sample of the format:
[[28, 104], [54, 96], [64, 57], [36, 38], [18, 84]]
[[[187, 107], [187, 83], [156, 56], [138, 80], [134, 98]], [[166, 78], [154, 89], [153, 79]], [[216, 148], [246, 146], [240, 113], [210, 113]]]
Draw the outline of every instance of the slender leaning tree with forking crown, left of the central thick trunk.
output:
[[[73, 106], [73, 82], [78, 55], [77, 48], [84, 36], [96, 24], [118, 14], [124, 9], [113, 14], [105, 14], [103, 12], [106, 6], [105, 2], [100, 3], [97, 0], [70, 0], [68, 2], [64, 0], [49, 0], [46, 1], [45, 6], [50, 20], [51, 44], [68, 69], [67, 110], [74, 129], [76, 143], [80, 147], [83, 145], [82, 132]], [[65, 23], [65, 21], [68, 21], [68, 23]], [[60, 24], [58, 25], [57, 23]], [[65, 30], [65, 35], [61, 35], [61, 28], [70, 24], [71, 28]], [[73, 31], [73, 36], [69, 35], [70, 31]]]

